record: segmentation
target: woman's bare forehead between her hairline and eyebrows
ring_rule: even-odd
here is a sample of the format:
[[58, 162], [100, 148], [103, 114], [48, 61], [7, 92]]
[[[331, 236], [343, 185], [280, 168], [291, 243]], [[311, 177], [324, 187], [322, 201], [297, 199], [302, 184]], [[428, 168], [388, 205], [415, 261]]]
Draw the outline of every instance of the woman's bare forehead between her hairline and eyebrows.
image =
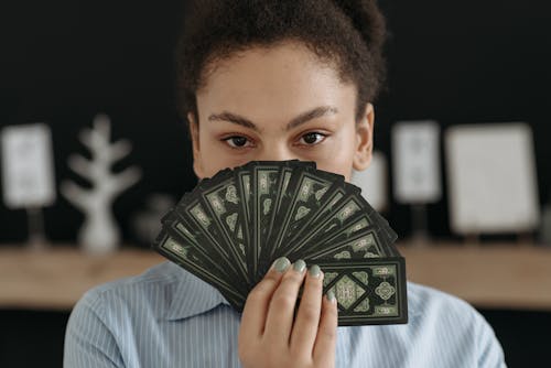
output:
[[291, 116], [313, 106], [346, 104], [355, 91], [306, 47], [282, 44], [250, 48], [225, 59], [197, 91], [197, 108], [247, 111], [259, 118], [284, 110]]

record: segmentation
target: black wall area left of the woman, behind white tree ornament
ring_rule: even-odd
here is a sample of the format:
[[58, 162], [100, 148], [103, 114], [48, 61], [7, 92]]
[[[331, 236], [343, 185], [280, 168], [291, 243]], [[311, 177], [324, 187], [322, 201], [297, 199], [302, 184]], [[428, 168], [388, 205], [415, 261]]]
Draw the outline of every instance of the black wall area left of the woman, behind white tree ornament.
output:
[[[19, 1], [9, 6], [0, 58], [0, 125], [47, 122], [53, 131], [57, 181], [73, 178], [71, 153], [86, 153], [77, 133], [97, 112], [112, 122], [114, 139], [133, 152], [115, 169], [137, 164], [142, 181], [115, 204], [128, 218], [153, 192], [180, 196], [195, 185], [184, 126], [173, 97], [172, 50], [182, 1]], [[3, 13], [7, 15], [7, 13]], [[71, 241], [83, 216], [63, 197], [45, 209], [47, 236]], [[0, 242], [26, 237], [23, 210], [0, 204]]]

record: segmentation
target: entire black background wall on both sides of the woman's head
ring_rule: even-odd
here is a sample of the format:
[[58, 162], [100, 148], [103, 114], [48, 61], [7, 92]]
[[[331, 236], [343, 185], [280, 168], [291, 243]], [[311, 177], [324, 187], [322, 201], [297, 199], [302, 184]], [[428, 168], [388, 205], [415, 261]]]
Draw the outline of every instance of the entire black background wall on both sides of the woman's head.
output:
[[[128, 240], [129, 216], [152, 192], [180, 197], [195, 185], [191, 151], [175, 112], [172, 50], [182, 1], [11, 1], [3, 4], [0, 125], [46, 121], [57, 178], [79, 177], [66, 158], [98, 111], [134, 150], [144, 177], [115, 204]], [[376, 148], [389, 154], [395, 121], [527, 121], [534, 131], [541, 202], [550, 196], [551, 6], [544, 1], [380, 1], [391, 39], [389, 84], [376, 104]], [[80, 181], [82, 182], [82, 181]], [[444, 181], [445, 182], [445, 181]], [[445, 183], [444, 183], [445, 184]], [[429, 207], [433, 235], [450, 236], [446, 199]], [[72, 241], [82, 215], [63, 197], [45, 210], [54, 241]], [[407, 206], [387, 214], [402, 237]], [[25, 239], [25, 214], [0, 204], [0, 242]], [[9, 224], [9, 226], [6, 226]]]

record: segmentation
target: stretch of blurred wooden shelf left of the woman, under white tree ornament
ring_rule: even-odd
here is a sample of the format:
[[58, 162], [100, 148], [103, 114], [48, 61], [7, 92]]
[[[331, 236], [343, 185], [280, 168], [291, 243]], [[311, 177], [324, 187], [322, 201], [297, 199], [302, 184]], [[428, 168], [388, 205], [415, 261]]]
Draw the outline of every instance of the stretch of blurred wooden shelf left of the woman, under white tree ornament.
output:
[[152, 250], [87, 256], [75, 247], [0, 247], [0, 307], [71, 310], [88, 289], [134, 275], [164, 259]]

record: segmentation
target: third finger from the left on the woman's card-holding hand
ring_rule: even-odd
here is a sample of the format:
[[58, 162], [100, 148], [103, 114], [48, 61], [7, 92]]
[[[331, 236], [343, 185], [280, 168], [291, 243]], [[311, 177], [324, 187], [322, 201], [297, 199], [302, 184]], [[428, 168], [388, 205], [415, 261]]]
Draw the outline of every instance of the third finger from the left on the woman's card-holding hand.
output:
[[322, 310], [323, 273], [316, 264], [310, 268], [304, 282], [304, 290], [299, 306], [299, 313], [291, 333], [292, 351], [307, 351], [309, 357], [312, 350], [320, 326], [320, 315]]

